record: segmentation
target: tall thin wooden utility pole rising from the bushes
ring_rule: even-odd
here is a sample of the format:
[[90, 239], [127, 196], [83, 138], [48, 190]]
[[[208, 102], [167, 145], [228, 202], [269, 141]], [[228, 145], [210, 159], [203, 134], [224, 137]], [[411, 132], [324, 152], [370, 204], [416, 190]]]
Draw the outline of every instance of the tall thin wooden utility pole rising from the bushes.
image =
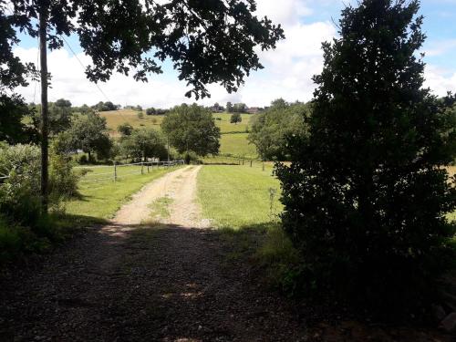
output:
[[41, 203], [48, 204], [48, 109], [47, 109], [47, 5], [39, 13], [39, 59], [41, 70]]

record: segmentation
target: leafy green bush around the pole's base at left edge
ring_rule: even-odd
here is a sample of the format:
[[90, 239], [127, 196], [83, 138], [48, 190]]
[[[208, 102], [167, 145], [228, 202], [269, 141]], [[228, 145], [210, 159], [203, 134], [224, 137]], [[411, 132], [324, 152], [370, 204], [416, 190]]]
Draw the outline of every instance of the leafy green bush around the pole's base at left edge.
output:
[[[77, 177], [69, 155], [56, 154], [64, 144], [53, 143], [51, 153], [50, 205], [59, 208], [62, 196], [76, 193]], [[58, 146], [58, 149], [57, 149]], [[42, 253], [60, 241], [53, 217], [43, 214], [40, 193], [40, 150], [34, 145], [0, 149], [0, 262], [18, 254]]]

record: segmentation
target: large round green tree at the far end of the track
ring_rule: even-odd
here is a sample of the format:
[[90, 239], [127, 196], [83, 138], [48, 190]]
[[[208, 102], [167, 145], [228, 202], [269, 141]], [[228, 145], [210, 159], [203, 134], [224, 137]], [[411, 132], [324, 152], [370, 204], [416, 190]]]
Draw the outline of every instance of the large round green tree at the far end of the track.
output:
[[174, 107], [163, 119], [161, 129], [179, 153], [193, 151], [204, 157], [219, 152], [220, 129], [209, 109], [196, 104]]

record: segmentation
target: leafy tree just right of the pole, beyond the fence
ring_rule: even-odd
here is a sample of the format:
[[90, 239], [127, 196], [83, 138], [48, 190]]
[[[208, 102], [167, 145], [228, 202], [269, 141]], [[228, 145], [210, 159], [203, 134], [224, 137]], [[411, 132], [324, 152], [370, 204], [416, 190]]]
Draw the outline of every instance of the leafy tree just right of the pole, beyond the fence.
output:
[[112, 141], [109, 139], [106, 127], [106, 119], [96, 113], [80, 115], [73, 120], [70, 128], [74, 146], [88, 153], [88, 161], [91, 161], [91, 153], [96, 152], [98, 159], [109, 156]]

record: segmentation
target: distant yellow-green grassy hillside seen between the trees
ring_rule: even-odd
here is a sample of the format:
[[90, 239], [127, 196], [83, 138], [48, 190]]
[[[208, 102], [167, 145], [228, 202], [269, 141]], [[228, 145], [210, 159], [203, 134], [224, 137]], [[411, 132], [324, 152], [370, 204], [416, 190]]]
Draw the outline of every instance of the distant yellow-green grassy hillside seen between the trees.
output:
[[[144, 117], [138, 117], [139, 111], [132, 109], [119, 109], [113, 111], [103, 111], [99, 114], [106, 118], [109, 134], [113, 137], [118, 137], [119, 132], [117, 128], [120, 124], [128, 122], [134, 128], [152, 128], [160, 130], [160, 124], [163, 120], [162, 115], [146, 115], [143, 111]], [[238, 124], [230, 123], [231, 114], [217, 113], [213, 114], [215, 124], [220, 127], [222, 132], [221, 149], [223, 154], [231, 154], [233, 156], [244, 156], [245, 158], [256, 158], [256, 150], [254, 145], [248, 143], [247, 131], [250, 125], [250, 119], [253, 115], [242, 114], [243, 121]]]

